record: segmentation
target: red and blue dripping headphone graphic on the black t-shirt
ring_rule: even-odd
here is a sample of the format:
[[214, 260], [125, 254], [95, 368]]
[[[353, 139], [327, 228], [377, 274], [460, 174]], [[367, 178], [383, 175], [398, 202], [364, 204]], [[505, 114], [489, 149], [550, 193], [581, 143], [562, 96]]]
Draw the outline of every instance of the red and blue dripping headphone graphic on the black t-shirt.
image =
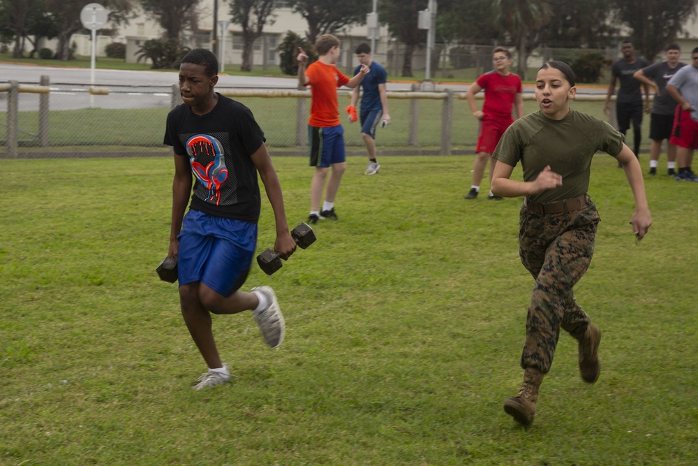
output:
[[228, 180], [223, 145], [207, 134], [197, 134], [186, 140], [191, 171], [199, 182], [208, 189], [206, 202], [221, 203], [221, 184]]

